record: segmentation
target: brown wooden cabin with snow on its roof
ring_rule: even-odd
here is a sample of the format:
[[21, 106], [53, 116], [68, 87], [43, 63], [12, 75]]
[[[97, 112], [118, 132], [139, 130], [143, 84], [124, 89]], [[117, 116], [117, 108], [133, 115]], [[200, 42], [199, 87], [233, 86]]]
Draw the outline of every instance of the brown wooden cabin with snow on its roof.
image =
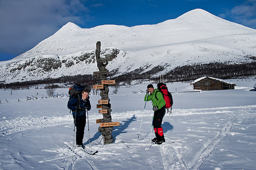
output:
[[228, 90], [234, 89], [234, 86], [236, 86], [236, 84], [230, 84], [222, 79], [212, 77], [199, 78], [190, 85], [194, 85], [194, 90]]

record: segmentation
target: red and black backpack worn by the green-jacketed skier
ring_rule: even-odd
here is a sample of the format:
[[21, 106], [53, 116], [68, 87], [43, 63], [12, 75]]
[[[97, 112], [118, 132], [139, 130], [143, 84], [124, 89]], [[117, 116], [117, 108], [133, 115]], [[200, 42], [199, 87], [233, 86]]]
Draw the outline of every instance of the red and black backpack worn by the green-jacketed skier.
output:
[[166, 84], [164, 83], [158, 83], [157, 84], [157, 89], [163, 94], [163, 99], [165, 101], [165, 108], [168, 111], [168, 108], [170, 109], [170, 112], [172, 112], [172, 106], [173, 106], [173, 96], [172, 94], [168, 91], [168, 88], [166, 87]]

